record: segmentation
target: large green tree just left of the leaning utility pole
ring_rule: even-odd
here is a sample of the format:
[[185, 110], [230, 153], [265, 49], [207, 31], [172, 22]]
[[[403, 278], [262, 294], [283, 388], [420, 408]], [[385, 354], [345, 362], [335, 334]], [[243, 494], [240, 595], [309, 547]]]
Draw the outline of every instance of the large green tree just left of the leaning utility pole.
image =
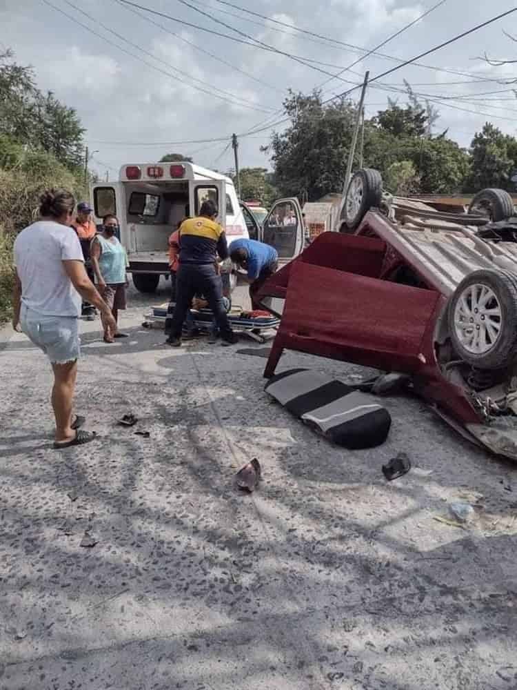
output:
[[284, 108], [290, 126], [274, 132], [270, 146], [263, 148], [270, 152], [279, 193], [314, 201], [341, 189], [354, 126], [352, 104], [323, 105], [319, 92], [291, 92]]

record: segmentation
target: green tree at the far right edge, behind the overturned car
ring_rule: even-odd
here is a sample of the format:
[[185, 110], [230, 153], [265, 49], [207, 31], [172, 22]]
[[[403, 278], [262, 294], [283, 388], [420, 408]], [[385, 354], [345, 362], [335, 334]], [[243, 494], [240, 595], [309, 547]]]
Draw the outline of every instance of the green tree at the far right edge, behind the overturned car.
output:
[[471, 173], [465, 190], [478, 192], [486, 187], [513, 190], [511, 173], [517, 165], [517, 140], [504, 135], [487, 122], [470, 145]]

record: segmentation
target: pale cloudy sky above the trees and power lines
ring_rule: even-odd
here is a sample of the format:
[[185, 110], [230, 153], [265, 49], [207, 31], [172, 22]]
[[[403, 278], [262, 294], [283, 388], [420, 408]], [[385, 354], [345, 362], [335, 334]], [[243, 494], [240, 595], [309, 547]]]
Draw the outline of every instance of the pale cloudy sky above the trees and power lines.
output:
[[[92, 168], [109, 170], [111, 179], [123, 163], [155, 161], [170, 151], [227, 170], [232, 132], [245, 135], [281, 119], [288, 88], [310, 92], [323, 85], [330, 97], [361, 81], [366, 69], [379, 75], [396, 66], [390, 58], [410, 59], [515, 6], [514, 0], [445, 0], [381, 48], [383, 57], [358, 61], [438, 0], [132, 1], [172, 19], [120, 0], [0, 0], [0, 47], [34, 66], [40, 88], [77, 109], [95, 151]], [[372, 84], [367, 115], [394, 95], [380, 84], [401, 88], [407, 79], [416, 92], [440, 101], [437, 128], [448, 127], [463, 146], [487, 120], [516, 135], [517, 99], [505, 80], [517, 78], [517, 64], [477, 59], [485, 52], [517, 59], [517, 43], [503, 30], [517, 37], [517, 12], [429, 55], [422, 60], [427, 68], [407, 66]], [[341, 77], [329, 76], [356, 61]], [[270, 133], [240, 137], [241, 166], [269, 164], [260, 147]], [[193, 143], [173, 143], [184, 141]]]

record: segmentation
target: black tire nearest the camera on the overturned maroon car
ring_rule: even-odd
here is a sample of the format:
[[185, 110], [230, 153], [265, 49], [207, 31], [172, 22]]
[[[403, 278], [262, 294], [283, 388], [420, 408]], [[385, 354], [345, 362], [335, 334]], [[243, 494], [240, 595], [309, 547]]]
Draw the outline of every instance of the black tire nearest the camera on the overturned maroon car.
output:
[[[469, 311], [468, 314], [472, 313], [472, 316], [469, 317], [467, 323], [467, 317], [465, 317], [467, 313], [462, 304], [466, 303], [467, 307], [472, 308], [472, 295], [469, 295], [469, 288], [472, 288], [472, 286], [485, 286], [489, 288], [494, 298], [490, 299], [483, 308], [479, 308], [476, 313], [474, 313], [474, 309], [472, 312]], [[460, 304], [462, 297], [465, 299], [463, 303]], [[483, 311], [493, 311], [495, 308], [498, 308], [500, 311], [499, 317], [496, 315], [487, 317], [483, 314]], [[470, 273], [460, 282], [454, 291], [454, 295], [452, 295], [451, 301], [449, 302], [447, 319], [454, 349], [467, 364], [481, 370], [493, 370], [509, 366], [514, 362], [517, 354], [516, 277], [504, 270], [485, 268]], [[471, 319], [473, 319], [472, 326], [470, 326]], [[479, 322], [476, 325], [478, 319], [483, 319], [485, 323]], [[473, 344], [467, 344], [465, 339], [471, 337], [474, 333], [474, 329], [479, 331], [481, 328], [482, 332], [485, 331], [487, 320], [490, 321], [490, 328], [492, 331], [494, 331], [494, 326], [497, 328], [498, 324], [498, 330], [494, 331], [497, 335], [496, 337], [491, 337], [490, 333], [488, 333], [491, 343], [488, 344], [485, 351], [474, 351], [475, 346]], [[465, 324], [466, 327], [458, 327], [458, 323]], [[486, 333], [483, 337], [485, 338], [486, 345]]]

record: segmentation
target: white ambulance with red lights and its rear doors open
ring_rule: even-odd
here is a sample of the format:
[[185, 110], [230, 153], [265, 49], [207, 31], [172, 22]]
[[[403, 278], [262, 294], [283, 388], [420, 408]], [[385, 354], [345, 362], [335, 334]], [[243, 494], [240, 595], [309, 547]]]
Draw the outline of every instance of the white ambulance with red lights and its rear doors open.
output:
[[205, 199], [216, 202], [228, 244], [255, 235], [230, 177], [192, 163], [123, 165], [119, 181], [94, 184], [91, 198], [97, 226], [108, 213], [119, 219], [119, 239], [128, 253], [128, 270], [142, 293], [154, 292], [160, 275], [169, 275], [169, 236], [183, 217], [199, 213]]

